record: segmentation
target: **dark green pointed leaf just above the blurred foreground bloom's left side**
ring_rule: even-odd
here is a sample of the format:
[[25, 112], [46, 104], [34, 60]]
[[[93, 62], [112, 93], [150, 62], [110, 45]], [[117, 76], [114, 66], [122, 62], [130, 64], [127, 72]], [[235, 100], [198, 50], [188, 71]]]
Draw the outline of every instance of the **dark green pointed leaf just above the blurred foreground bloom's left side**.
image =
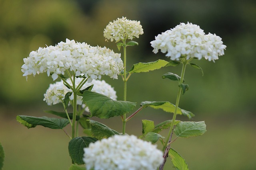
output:
[[110, 129], [109, 127], [107, 127], [106, 125], [100, 122], [93, 121], [93, 120], [89, 120], [89, 122], [92, 128], [91, 130], [92, 137], [98, 140], [111, 137], [112, 135], [120, 135], [117, 131]]

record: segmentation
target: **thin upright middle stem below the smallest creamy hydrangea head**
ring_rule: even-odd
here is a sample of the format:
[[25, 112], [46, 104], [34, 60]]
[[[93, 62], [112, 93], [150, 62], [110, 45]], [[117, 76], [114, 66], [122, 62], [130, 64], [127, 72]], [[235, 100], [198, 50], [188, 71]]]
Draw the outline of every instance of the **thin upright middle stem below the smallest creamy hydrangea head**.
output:
[[[124, 41], [124, 101], [126, 101], [126, 42]], [[125, 134], [125, 126], [126, 126], [126, 114], [123, 115], [123, 135]]]

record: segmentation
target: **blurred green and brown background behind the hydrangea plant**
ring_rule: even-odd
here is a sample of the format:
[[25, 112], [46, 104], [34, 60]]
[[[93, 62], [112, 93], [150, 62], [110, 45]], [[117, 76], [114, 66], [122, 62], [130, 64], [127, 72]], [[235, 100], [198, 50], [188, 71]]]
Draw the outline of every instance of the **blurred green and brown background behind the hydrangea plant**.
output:
[[[207, 132], [178, 139], [172, 147], [187, 161], [190, 170], [256, 169], [256, 2], [255, 0], [0, 0], [0, 143], [5, 151], [3, 170], [67, 170], [68, 137], [61, 130], [38, 126], [27, 129], [16, 115], [51, 116], [43, 95], [52, 78], [46, 74], [22, 76], [23, 58], [38, 47], [74, 39], [92, 46], [106, 46], [118, 53], [116, 43], [106, 42], [103, 30], [109, 21], [126, 16], [139, 20], [144, 29], [139, 46], [128, 47], [128, 69], [138, 62], [169, 59], [152, 53], [150, 41], [159, 33], [188, 21], [207, 34], [216, 33], [227, 46], [215, 63], [196, 63], [204, 70], [187, 67], [189, 90], [180, 107], [192, 111], [192, 121], [206, 121]], [[122, 53], [122, 50], [120, 51]], [[166, 72], [180, 74], [181, 67], [134, 73], [128, 81], [127, 99], [137, 102], [175, 103], [178, 84], [162, 79]], [[114, 86], [122, 100], [121, 77], [102, 79]], [[146, 108], [128, 121], [127, 133], [141, 135], [141, 119], [155, 124], [172, 114]], [[177, 119], [187, 121], [186, 117]], [[98, 120], [98, 119], [95, 119]], [[101, 121], [101, 120], [98, 120]], [[121, 132], [120, 117], [102, 121]], [[69, 125], [66, 131], [70, 132]], [[167, 132], [163, 132], [165, 135]], [[80, 134], [82, 135], [82, 133]], [[173, 169], [168, 160], [166, 170]]]

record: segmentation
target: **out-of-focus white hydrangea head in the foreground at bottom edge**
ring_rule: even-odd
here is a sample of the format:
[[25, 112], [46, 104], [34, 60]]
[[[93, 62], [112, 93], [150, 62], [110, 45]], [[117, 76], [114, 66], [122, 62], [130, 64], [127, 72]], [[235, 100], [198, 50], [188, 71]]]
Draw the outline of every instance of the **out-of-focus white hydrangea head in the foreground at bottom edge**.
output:
[[90, 170], [156, 170], [162, 151], [148, 141], [131, 135], [114, 135], [84, 148], [84, 162]]

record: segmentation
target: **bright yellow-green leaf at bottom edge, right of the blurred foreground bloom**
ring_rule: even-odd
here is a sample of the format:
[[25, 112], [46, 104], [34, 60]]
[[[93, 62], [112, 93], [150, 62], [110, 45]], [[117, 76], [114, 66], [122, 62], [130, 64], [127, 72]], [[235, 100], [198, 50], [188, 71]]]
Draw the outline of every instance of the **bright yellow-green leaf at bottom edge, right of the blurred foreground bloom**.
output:
[[172, 158], [172, 164], [175, 168], [177, 168], [178, 170], [188, 170], [188, 164], [176, 150], [170, 148], [168, 154]]

